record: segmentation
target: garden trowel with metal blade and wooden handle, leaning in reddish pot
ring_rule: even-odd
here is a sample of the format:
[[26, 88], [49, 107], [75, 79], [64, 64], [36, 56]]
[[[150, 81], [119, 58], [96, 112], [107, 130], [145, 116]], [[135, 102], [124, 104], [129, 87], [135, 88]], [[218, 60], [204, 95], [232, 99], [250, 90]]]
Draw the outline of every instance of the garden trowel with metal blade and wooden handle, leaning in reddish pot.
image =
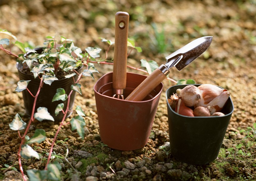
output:
[[165, 57], [167, 63], [160, 65], [150, 74], [132, 93], [125, 99], [127, 101], [142, 101], [154, 88], [159, 85], [170, 73], [171, 67], [183, 69], [190, 62], [208, 49], [212, 42], [212, 36], [204, 36], [191, 41], [171, 55]]

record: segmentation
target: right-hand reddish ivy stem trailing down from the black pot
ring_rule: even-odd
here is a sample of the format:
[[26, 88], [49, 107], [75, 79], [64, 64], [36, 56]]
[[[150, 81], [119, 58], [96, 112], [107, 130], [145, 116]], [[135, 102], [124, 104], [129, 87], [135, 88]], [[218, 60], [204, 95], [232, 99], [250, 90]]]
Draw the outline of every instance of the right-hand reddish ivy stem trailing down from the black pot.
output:
[[[76, 80], [75, 83], [78, 83], [79, 80], [81, 79], [81, 77], [82, 77], [82, 74], [79, 74], [79, 76], [78, 76], [78, 78], [77, 78], [77, 80]], [[51, 156], [52, 156], [52, 150], [53, 150], [53, 147], [54, 147], [54, 143], [55, 143], [55, 141], [57, 140], [58, 133], [59, 133], [59, 131], [61, 130], [62, 125], [66, 125], [66, 124], [67, 124], [67, 123], [64, 124], [64, 121], [65, 121], [66, 116], [67, 116], [67, 113], [68, 113], [68, 107], [69, 107], [70, 97], [71, 97], [72, 92], [73, 92], [73, 90], [70, 91], [70, 93], [69, 93], [69, 95], [68, 95], [68, 97], [67, 97], [67, 107], [66, 107], [65, 113], [64, 113], [64, 115], [63, 115], [62, 121], [61, 121], [61, 123], [60, 123], [60, 125], [59, 125], [59, 127], [58, 127], [58, 130], [56, 131], [56, 134], [55, 134], [55, 136], [54, 136], [54, 138], [53, 138], [52, 145], [51, 145], [51, 149], [50, 149], [50, 152], [49, 152], [49, 155], [48, 155], [48, 159], [47, 159], [47, 163], [46, 163], [46, 165], [45, 165], [45, 170], [47, 170], [47, 166], [48, 166], [48, 164], [50, 163]]]

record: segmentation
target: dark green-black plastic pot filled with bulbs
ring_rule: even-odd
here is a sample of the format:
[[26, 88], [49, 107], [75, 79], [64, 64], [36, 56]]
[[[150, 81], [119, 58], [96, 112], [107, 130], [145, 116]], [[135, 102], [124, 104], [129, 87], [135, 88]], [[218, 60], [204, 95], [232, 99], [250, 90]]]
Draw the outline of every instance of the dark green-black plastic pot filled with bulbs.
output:
[[[194, 84], [199, 86], [200, 84]], [[168, 103], [177, 89], [187, 85], [175, 85], [167, 89], [166, 101], [168, 111], [171, 154], [188, 164], [207, 164], [214, 161], [224, 139], [234, 105], [229, 97], [222, 111], [225, 116], [188, 117], [176, 113]]]

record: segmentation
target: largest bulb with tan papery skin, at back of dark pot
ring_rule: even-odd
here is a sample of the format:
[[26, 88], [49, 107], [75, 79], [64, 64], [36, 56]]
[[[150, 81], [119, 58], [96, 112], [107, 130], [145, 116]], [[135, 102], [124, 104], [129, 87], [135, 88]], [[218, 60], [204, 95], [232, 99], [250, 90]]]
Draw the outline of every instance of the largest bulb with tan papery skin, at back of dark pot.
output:
[[197, 103], [197, 106], [204, 106], [211, 102], [214, 98], [219, 96], [222, 92], [227, 91], [226, 89], [222, 89], [216, 85], [212, 84], [202, 84], [198, 86], [201, 93], [201, 99]]

